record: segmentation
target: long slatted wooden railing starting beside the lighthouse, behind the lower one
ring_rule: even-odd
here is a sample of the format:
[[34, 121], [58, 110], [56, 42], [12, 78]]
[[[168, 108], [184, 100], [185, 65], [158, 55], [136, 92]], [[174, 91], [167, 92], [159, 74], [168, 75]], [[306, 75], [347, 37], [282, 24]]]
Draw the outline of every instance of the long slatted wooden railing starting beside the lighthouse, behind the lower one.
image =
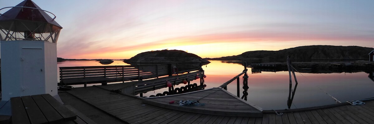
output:
[[[156, 65], [115, 65], [115, 66], [77, 66], [60, 67], [60, 84], [86, 84], [144, 80], [159, 78], [186, 71], [177, 71], [177, 63]], [[193, 69], [197, 70], [197, 69]]]

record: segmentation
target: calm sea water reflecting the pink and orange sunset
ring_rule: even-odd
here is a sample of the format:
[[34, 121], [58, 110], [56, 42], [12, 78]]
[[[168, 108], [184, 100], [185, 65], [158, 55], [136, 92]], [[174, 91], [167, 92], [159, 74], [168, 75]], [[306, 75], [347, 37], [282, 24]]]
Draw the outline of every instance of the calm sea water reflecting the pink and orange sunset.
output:
[[[122, 61], [114, 61], [109, 65], [129, 65]], [[58, 62], [60, 66], [102, 66], [95, 61], [68, 61]], [[241, 73], [244, 67], [237, 63], [226, 63], [221, 61], [211, 61], [204, 65], [206, 88], [218, 87], [224, 82]], [[371, 72], [372, 73], [372, 72]], [[302, 75], [301, 75], [302, 74]], [[295, 90], [292, 108], [304, 108], [311, 106], [321, 106], [334, 104], [335, 97], [340, 102], [359, 100], [374, 97], [374, 82], [365, 72], [356, 73], [330, 73], [330, 74], [310, 74], [296, 73], [298, 86]], [[260, 106], [264, 110], [287, 109], [287, 99], [289, 93], [288, 72], [261, 72], [252, 74], [248, 68], [248, 102]], [[240, 97], [243, 95], [242, 76], [240, 77]], [[292, 80], [294, 89], [295, 83]], [[199, 84], [198, 80], [191, 83]], [[176, 87], [184, 86], [180, 84]], [[77, 87], [77, 86], [76, 86]], [[78, 86], [79, 87], [79, 86]], [[227, 86], [227, 90], [237, 94], [236, 80]], [[322, 90], [321, 90], [321, 89]], [[144, 96], [156, 95], [168, 91], [167, 88], [145, 93]], [[328, 94], [331, 96], [329, 96]]]

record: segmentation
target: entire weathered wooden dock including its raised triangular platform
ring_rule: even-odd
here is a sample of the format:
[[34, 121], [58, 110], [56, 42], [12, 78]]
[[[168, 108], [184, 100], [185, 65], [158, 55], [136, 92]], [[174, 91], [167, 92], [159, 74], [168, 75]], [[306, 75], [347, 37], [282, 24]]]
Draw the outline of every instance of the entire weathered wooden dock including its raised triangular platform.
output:
[[[158, 86], [166, 87], [165, 80], [176, 84], [181, 83], [183, 79], [194, 80], [193, 77], [199, 76], [200, 83], [203, 83], [201, 78], [203, 71], [169, 75], [133, 83], [81, 87], [67, 91], [67, 93], [112, 117], [131, 124], [374, 124], [374, 101], [364, 101], [365, 105], [355, 106], [345, 102], [310, 108], [263, 111], [259, 106], [246, 102], [224, 90], [227, 89], [229, 83], [239, 79], [239, 76], [243, 74], [243, 89], [246, 87], [248, 90], [247, 71], [245, 64], [242, 73], [223, 83], [220, 87], [167, 96], [143, 98], [133, 94], [150, 91]], [[137, 85], [135, 89], [147, 88], [127, 94], [126, 92], [110, 93], [110, 90], [123, 89], [128, 86], [134, 87], [135, 84]], [[239, 80], [237, 80], [237, 84], [237, 89], [239, 89]], [[237, 94], [239, 95], [239, 92]], [[246, 99], [246, 96], [243, 97]], [[199, 103], [205, 105], [169, 104], [172, 100], [199, 100]]]

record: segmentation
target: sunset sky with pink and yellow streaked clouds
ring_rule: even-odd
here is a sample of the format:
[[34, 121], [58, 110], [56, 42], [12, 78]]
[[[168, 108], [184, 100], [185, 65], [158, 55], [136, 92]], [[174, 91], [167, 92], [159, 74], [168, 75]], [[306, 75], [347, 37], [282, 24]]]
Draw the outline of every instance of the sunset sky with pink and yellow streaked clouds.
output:
[[[217, 58], [306, 45], [374, 47], [373, 0], [33, 1], [63, 27], [61, 58], [129, 59], [163, 49]], [[0, 7], [21, 2], [0, 0]]]

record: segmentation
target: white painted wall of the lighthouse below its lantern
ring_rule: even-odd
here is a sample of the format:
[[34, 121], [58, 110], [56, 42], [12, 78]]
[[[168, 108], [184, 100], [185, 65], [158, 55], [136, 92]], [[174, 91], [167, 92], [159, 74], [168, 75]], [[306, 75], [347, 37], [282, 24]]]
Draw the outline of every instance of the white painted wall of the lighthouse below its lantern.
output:
[[1, 41], [2, 101], [10, 97], [57, 95], [56, 44], [43, 41]]

